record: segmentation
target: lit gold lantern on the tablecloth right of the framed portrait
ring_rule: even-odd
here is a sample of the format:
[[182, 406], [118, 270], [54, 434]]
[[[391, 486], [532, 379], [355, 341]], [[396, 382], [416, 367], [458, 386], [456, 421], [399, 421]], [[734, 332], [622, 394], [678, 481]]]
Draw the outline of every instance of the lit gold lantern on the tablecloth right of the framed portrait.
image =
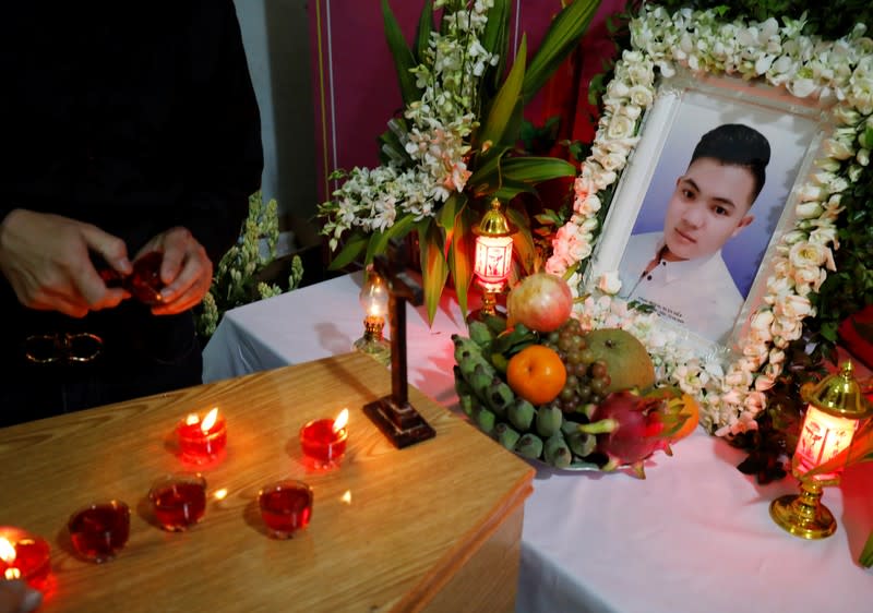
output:
[[834, 514], [822, 504], [822, 489], [838, 484], [842, 469], [806, 473], [824, 468], [825, 462], [848, 449], [860, 424], [873, 414], [852, 372], [852, 363], [845, 362], [839, 373], [801, 387], [806, 414], [791, 458], [800, 494], [785, 495], [770, 504], [773, 520], [796, 537], [824, 539], [837, 529]]

